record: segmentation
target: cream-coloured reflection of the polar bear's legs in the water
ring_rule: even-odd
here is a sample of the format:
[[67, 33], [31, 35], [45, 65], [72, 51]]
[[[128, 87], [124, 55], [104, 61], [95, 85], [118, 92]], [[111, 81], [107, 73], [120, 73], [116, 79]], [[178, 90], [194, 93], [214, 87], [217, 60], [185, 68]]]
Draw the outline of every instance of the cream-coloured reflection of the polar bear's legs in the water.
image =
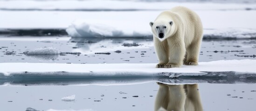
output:
[[157, 82], [159, 90], [154, 111], [203, 111], [197, 84], [167, 85]]

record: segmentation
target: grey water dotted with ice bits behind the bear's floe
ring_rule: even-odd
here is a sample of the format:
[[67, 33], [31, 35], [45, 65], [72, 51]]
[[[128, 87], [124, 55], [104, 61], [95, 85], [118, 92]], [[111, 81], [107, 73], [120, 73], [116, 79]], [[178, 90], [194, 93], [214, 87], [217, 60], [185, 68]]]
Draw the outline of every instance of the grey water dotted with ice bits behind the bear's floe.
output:
[[[33, 54], [48, 49], [49, 53]], [[53, 50], [54, 49], [54, 50]], [[30, 53], [28, 51], [30, 50]], [[32, 50], [32, 51], [31, 51]], [[34, 51], [34, 52], [33, 52]], [[256, 59], [256, 40], [205, 40], [199, 62]], [[157, 63], [151, 38], [0, 38], [0, 62]], [[93, 61], [92, 61], [93, 60]]]

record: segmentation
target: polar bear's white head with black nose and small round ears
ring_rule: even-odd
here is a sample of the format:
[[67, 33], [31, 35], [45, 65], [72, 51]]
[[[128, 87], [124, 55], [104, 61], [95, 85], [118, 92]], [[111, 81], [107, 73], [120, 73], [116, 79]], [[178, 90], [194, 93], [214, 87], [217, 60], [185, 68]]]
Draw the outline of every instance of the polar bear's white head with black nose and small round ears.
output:
[[164, 41], [167, 37], [170, 37], [174, 33], [173, 21], [155, 21], [150, 22], [151, 30], [154, 37], [157, 37], [160, 41]]

